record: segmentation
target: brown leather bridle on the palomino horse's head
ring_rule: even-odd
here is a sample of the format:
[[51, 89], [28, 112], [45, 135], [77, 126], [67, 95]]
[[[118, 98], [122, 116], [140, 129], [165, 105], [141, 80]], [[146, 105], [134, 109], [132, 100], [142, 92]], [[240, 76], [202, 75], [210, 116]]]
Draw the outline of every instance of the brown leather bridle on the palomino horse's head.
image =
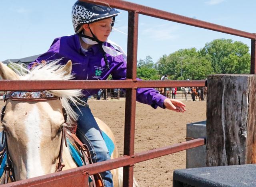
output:
[[[60, 99], [60, 97], [54, 96], [53, 94], [48, 93], [47, 91], [11, 91], [10, 93], [4, 95], [4, 102], [8, 99], [11, 100], [16, 100], [16, 101], [46, 101], [46, 100], [55, 100], [55, 99]], [[4, 119], [4, 114], [5, 114], [5, 109], [6, 105], [3, 106], [2, 111], [1, 111], [1, 123]], [[62, 106], [62, 113], [64, 117], [64, 123], [67, 122], [68, 114], [66, 112], [66, 109], [64, 106]], [[2, 144], [4, 144], [5, 140], [5, 149], [6, 149], [6, 156], [7, 156], [7, 161], [6, 161], [6, 167], [4, 168], [4, 183], [8, 182], [8, 177], [11, 179], [12, 182], [15, 181], [14, 177], [14, 169], [13, 169], [13, 164], [10, 159], [9, 151], [8, 151], [8, 145], [7, 145], [7, 136], [6, 132], [3, 132], [2, 134]], [[62, 136], [61, 136], [61, 143], [60, 143], [60, 152], [58, 155], [58, 164], [56, 165], [56, 170], [55, 172], [61, 171], [62, 168], [65, 166], [63, 163], [62, 159], [62, 152], [63, 152], [63, 144], [65, 142], [65, 146], [67, 147], [67, 142], [66, 142], [66, 128], [62, 128]]]

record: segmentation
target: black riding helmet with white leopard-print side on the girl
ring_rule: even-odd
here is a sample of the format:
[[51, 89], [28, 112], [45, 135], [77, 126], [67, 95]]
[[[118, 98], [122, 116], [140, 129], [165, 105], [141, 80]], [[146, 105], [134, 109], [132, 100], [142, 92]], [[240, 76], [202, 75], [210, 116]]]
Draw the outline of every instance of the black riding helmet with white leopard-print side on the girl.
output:
[[[72, 23], [75, 32], [80, 29], [82, 24], [89, 24], [106, 18], [115, 17], [121, 12], [110, 8], [108, 6], [102, 6], [97, 4], [91, 4], [88, 2], [77, 1], [72, 7]], [[114, 20], [114, 19], [113, 19]], [[114, 25], [114, 22], [112, 26]]]

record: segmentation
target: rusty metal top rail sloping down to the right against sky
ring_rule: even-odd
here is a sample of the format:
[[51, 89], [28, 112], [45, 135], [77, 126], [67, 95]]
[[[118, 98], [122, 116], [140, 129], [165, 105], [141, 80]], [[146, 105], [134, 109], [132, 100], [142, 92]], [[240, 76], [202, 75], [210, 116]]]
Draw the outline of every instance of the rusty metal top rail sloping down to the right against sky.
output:
[[186, 24], [186, 25], [204, 28], [204, 29], [208, 29], [208, 30], [214, 30], [214, 31], [222, 32], [222, 33], [246, 37], [249, 39], [256, 39], [256, 34], [254, 34], [254, 33], [249, 33], [246, 31], [236, 30], [233, 28], [229, 28], [229, 27], [225, 27], [225, 26], [221, 26], [221, 25], [217, 25], [217, 24], [212, 24], [209, 22], [204, 22], [204, 21], [189, 18], [186, 16], [180, 16], [178, 14], [173, 14], [173, 13], [166, 12], [163, 10], [158, 10], [156, 8], [142, 6], [140, 4], [127, 2], [127, 1], [123, 1], [123, 0], [104, 0], [105, 3], [100, 2], [100, 1], [95, 1], [95, 0], [81, 0], [81, 1], [93, 2], [95, 4], [102, 4], [102, 5], [107, 4], [114, 8], [119, 8], [122, 10], [136, 12], [138, 14], [144, 14], [146, 16], [160, 18], [162, 20], [178, 22], [181, 24]]

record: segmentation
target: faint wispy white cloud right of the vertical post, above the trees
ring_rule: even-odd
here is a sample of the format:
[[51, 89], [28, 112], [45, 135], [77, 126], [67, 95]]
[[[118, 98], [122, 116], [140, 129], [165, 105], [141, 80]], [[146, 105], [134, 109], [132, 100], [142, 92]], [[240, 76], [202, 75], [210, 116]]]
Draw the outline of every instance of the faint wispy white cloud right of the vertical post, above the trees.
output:
[[178, 34], [175, 34], [179, 29], [180, 26], [172, 26], [170, 24], [154, 26], [151, 24], [150, 28], [142, 30], [141, 34], [144, 37], [150, 37], [155, 41], [172, 40], [179, 37]]

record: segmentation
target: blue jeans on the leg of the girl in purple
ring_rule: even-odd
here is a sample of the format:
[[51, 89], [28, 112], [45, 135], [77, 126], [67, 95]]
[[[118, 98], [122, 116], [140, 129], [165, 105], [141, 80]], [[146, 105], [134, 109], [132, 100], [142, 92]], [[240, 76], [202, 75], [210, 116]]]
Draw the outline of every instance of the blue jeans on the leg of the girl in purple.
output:
[[[92, 115], [89, 106], [76, 106], [74, 111], [79, 115], [77, 122], [76, 136], [90, 149], [93, 163], [109, 160], [108, 148], [103, 140], [101, 130]], [[100, 173], [105, 187], [113, 187], [112, 174], [110, 171]]]

